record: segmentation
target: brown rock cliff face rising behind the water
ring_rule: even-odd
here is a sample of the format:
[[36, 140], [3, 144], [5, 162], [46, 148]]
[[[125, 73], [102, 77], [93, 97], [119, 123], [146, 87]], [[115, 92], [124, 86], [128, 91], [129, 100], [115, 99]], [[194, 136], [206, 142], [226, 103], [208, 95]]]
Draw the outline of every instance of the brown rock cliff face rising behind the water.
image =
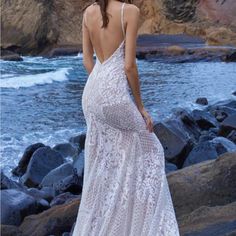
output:
[[[85, 0], [1, 1], [1, 48], [38, 54], [55, 47], [79, 47]], [[202, 36], [209, 44], [236, 45], [234, 0], [135, 0], [141, 9], [139, 34]]]

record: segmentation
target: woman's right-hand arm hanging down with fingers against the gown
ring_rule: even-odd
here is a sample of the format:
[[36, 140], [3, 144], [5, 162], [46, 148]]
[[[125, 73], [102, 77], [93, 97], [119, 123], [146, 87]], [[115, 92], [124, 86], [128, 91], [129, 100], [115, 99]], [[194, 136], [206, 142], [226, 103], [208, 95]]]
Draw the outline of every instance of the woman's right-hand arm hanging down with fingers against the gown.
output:
[[136, 64], [136, 40], [138, 33], [140, 10], [135, 5], [129, 5], [127, 8], [129, 9], [127, 9], [128, 13], [125, 14], [127, 21], [125, 39], [125, 72], [127, 75], [129, 86], [134, 96], [136, 106], [147, 124], [147, 129], [152, 132], [153, 121], [151, 119], [151, 116], [145, 110], [142, 102], [138, 68]]

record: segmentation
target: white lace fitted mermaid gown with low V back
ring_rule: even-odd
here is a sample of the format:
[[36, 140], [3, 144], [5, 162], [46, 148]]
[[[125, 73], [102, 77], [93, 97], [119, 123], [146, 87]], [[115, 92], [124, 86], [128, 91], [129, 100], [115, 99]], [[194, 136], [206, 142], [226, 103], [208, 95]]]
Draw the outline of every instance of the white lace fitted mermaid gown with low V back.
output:
[[84, 182], [72, 236], [178, 236], [164, 150], [131, 99], [124, 46], [96, 58], [84, 87]]

